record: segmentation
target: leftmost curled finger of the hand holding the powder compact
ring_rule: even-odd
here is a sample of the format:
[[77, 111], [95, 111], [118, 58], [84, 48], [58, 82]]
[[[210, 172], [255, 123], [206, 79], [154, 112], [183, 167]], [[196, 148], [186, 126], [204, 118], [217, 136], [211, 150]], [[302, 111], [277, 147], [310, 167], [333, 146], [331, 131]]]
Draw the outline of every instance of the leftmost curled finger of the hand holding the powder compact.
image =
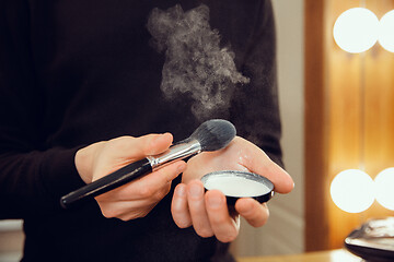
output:
[[192, 217], [187, 205], [187, 187], [184, 183], [176, 186], [171, 203], [171, 213], [179, 228], [192, 226]]

